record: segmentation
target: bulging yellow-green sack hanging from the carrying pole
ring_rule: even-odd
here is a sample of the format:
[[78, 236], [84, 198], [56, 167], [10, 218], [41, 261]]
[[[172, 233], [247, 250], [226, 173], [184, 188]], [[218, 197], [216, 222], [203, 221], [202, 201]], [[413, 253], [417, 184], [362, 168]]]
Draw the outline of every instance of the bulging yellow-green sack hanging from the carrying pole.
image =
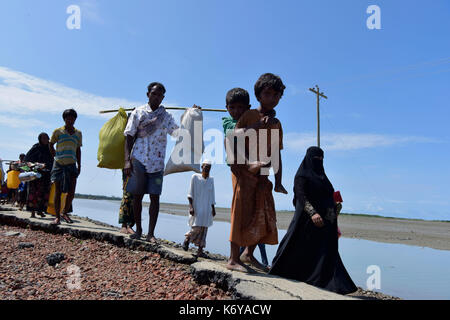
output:
[[97, 160], [99, 168], [123, 169], [125, 165], [125, 136], [127, 113], [123, 108], [100, 130]]

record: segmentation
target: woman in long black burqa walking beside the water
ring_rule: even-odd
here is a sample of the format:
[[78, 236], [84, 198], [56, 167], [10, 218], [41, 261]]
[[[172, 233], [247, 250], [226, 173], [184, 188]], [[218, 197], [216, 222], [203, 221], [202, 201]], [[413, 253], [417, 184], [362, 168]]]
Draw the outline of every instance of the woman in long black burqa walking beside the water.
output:
[[339, 294], [357, 290], [338, 252], [333, 193], [323, 168], [323, 151], [310, 147], [295, 175], [295, 215], [280, 242], [270, 274]]

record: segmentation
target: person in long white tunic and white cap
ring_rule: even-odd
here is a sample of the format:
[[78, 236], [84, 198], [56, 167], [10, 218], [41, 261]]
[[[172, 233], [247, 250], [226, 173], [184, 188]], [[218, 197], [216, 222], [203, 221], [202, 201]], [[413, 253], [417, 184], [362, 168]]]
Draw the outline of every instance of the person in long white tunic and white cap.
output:
[[211, 162], [204, 160], [202, 163], [202, 173], [195, 173], [191, 178], [191, 185], [188, 193], [189, 200], [189, 226], [191, 230], [185, 234], [186, 239], [183, 249], [188, 250], [189, 243], [198, 246], [197, 257], [202, 256], [203, 248], [206, 246], [206, 234], [208, 227], [213, 224], [213, 217], [216, 216], [214, 179], [209, 176]]

